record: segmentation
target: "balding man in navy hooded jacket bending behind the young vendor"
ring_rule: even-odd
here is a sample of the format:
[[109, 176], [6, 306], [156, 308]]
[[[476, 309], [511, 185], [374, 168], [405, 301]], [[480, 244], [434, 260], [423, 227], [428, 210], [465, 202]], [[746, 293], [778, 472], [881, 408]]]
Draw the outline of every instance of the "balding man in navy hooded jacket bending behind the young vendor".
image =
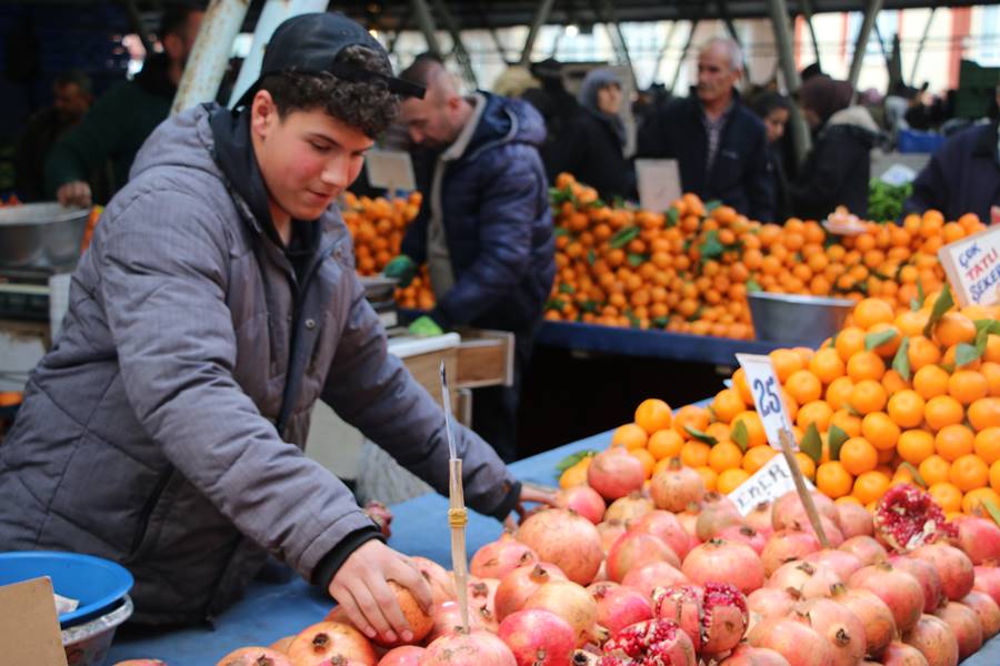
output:
[[440, 154], [423, 209], [407, 230], [403, 256], [386, 273], [404, 282], [427, 262], [437, 305], [411, 329], [471, 324], [517, 336], [512, 386], [479, 389], [472, 427], [503, 460], [517, 456], [521, 374], [556, 274], [544, 124], [533, 107], [487, 92], [462, 97], [439, 64], [401, 78], [427, 85], [401, 115], [414, 143]]

